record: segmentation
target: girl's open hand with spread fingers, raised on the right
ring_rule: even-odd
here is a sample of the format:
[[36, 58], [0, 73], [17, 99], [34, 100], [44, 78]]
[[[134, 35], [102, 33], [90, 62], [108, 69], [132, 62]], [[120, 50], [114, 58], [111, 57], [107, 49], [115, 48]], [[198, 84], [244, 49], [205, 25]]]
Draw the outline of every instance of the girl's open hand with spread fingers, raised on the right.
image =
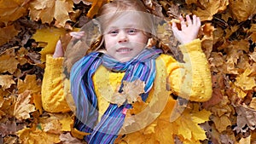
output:
[[189, 15], [186, 15], [187, 21], [185, 21], [182, 16], [180, 16], [179, 19], [181, 21], [181, 30], [178, 30], [176, 23], [172, 22], [172, 32], [177, 40], [182, 44], [195, 40], [201, 27], [200, 18], [193, 15], [193, 20], [191, 20]]

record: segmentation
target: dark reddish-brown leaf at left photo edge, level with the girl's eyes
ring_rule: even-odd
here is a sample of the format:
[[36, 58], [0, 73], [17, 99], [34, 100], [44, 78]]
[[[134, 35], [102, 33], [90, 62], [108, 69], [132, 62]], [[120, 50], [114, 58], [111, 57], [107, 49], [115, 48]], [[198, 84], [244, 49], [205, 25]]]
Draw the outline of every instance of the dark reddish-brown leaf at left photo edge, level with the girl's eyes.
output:
[[[3, 1], [0, 1], [0, 4]], [[0, 5], [1, 7], [1, 5]], [[0, 8], [0, 11], [2, 9]], [[0, 14], [2, 14], [0, 12]], [[1, 16], [0, 16], [0, 21], [1, 21]], [[3, 28], [0, 28], [0, 45], [3, 45], [4, 43], [8, 43], [9, 40], [11, 40], [12, 38], [14, 38], [15, 36], [18, 35], [18, 31], [15, 29], [15, 26], [11, 25], [11, 26], [6, 26]]]

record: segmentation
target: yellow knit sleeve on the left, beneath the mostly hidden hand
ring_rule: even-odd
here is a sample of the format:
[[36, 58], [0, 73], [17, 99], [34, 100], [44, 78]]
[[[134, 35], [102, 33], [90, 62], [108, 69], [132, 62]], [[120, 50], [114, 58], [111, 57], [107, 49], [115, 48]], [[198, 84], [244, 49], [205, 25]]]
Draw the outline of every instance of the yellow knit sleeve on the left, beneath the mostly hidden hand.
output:
[[47, 112], [68, 112], [62, 80], [63, 58], [46, 56], [44, 78], [42, 84], [42, 104]]

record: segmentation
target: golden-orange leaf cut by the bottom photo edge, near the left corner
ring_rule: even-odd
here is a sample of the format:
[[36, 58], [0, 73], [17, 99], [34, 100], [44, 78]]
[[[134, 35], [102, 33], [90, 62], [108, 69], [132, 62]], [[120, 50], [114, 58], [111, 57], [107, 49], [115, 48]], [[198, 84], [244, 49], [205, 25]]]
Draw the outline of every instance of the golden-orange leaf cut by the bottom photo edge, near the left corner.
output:
[[23, 144], [48, 144], [48, 143], [59, 143], [61, 142], [60, 135], [46, 133], [43, 130], [33, 130], [25, 128], [19, 130], [17, 135]]

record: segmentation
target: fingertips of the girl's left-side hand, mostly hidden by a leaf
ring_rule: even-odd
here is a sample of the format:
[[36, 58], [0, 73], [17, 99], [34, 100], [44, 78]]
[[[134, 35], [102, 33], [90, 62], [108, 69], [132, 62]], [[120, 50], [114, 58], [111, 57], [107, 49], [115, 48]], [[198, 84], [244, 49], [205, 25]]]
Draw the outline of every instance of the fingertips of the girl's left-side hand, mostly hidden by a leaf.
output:
[[[69, 32], [69, 35], [73, 38], [80, 39], [84, 36], [84, 32]], [[53, 55], [53, 58], [63, 57], [64, 56], [64, 50], [61, 45], [61, 40], [58, 40], [58, 42], [55, 45], [55, 53]]]

